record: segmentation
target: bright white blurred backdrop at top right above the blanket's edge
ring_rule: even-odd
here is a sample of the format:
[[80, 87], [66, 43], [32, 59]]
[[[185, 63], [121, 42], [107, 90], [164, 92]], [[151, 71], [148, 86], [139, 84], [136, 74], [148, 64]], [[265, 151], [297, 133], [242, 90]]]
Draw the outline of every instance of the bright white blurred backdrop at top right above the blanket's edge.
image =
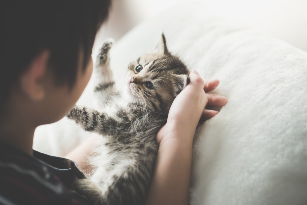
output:
[[240, 20], [307, 51], [306, 0], [205, 0], [217, 14]]

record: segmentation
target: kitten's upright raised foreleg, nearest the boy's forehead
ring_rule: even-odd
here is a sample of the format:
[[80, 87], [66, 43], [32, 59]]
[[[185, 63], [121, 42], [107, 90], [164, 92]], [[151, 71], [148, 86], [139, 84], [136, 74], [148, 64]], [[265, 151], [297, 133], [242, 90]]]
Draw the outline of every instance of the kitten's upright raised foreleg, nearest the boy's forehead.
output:
[[113, 40], [107, 40], [103, 43], [99, 54], [97, 55], [94, 75], [95, 88], [94, 94], [99, 103], [105, 103], [110, 95], [117, 94], [112, 70], [110, 69], [109, 51], [113, 45]]

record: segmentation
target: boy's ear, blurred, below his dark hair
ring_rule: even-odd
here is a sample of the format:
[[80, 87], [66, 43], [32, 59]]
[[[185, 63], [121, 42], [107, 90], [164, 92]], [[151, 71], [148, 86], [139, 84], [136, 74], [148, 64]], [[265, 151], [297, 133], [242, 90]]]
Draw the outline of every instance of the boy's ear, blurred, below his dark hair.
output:
[[30, 63], [28, 69], [21, 75], [21, 90], [31, 100], [39, 101], [45, 97], [43, 78], [47, 71], [49, 52], [39, 53]]

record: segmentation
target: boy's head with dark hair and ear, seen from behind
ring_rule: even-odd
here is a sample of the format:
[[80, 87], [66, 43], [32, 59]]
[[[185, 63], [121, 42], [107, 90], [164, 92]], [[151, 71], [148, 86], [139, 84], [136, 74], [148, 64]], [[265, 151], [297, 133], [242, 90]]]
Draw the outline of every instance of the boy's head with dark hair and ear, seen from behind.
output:
[[15, 108], [40, 110], [34, 114], [41, 117], [38, 124], [59, 120], [68, 111], [91, 75], [91, 49], [110, 4], [111, 0], [0, 3], [0, 120]]

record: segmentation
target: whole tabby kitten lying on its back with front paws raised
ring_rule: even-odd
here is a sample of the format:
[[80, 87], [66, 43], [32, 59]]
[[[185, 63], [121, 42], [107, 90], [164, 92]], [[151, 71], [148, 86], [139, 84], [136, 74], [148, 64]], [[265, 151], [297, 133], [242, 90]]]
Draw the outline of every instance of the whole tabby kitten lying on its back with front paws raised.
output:
[[92, 160], [93, 175], [74, 186], [93, 204], [144, 204], [158, 150], [155, 135], [166, 123], [174, 98], [188, 84], [189, 70], [170, 54], [162, 34], [153, 52], [128, 65], [121, 96], [109, 65], [111, 46], [111, 41], [103, 44], [95, 64], [99, 84], [94, 92], [102, 109], [75, 106], [68, 114], [86, 131], [107, 140], [97, 142], [102, 145]]

